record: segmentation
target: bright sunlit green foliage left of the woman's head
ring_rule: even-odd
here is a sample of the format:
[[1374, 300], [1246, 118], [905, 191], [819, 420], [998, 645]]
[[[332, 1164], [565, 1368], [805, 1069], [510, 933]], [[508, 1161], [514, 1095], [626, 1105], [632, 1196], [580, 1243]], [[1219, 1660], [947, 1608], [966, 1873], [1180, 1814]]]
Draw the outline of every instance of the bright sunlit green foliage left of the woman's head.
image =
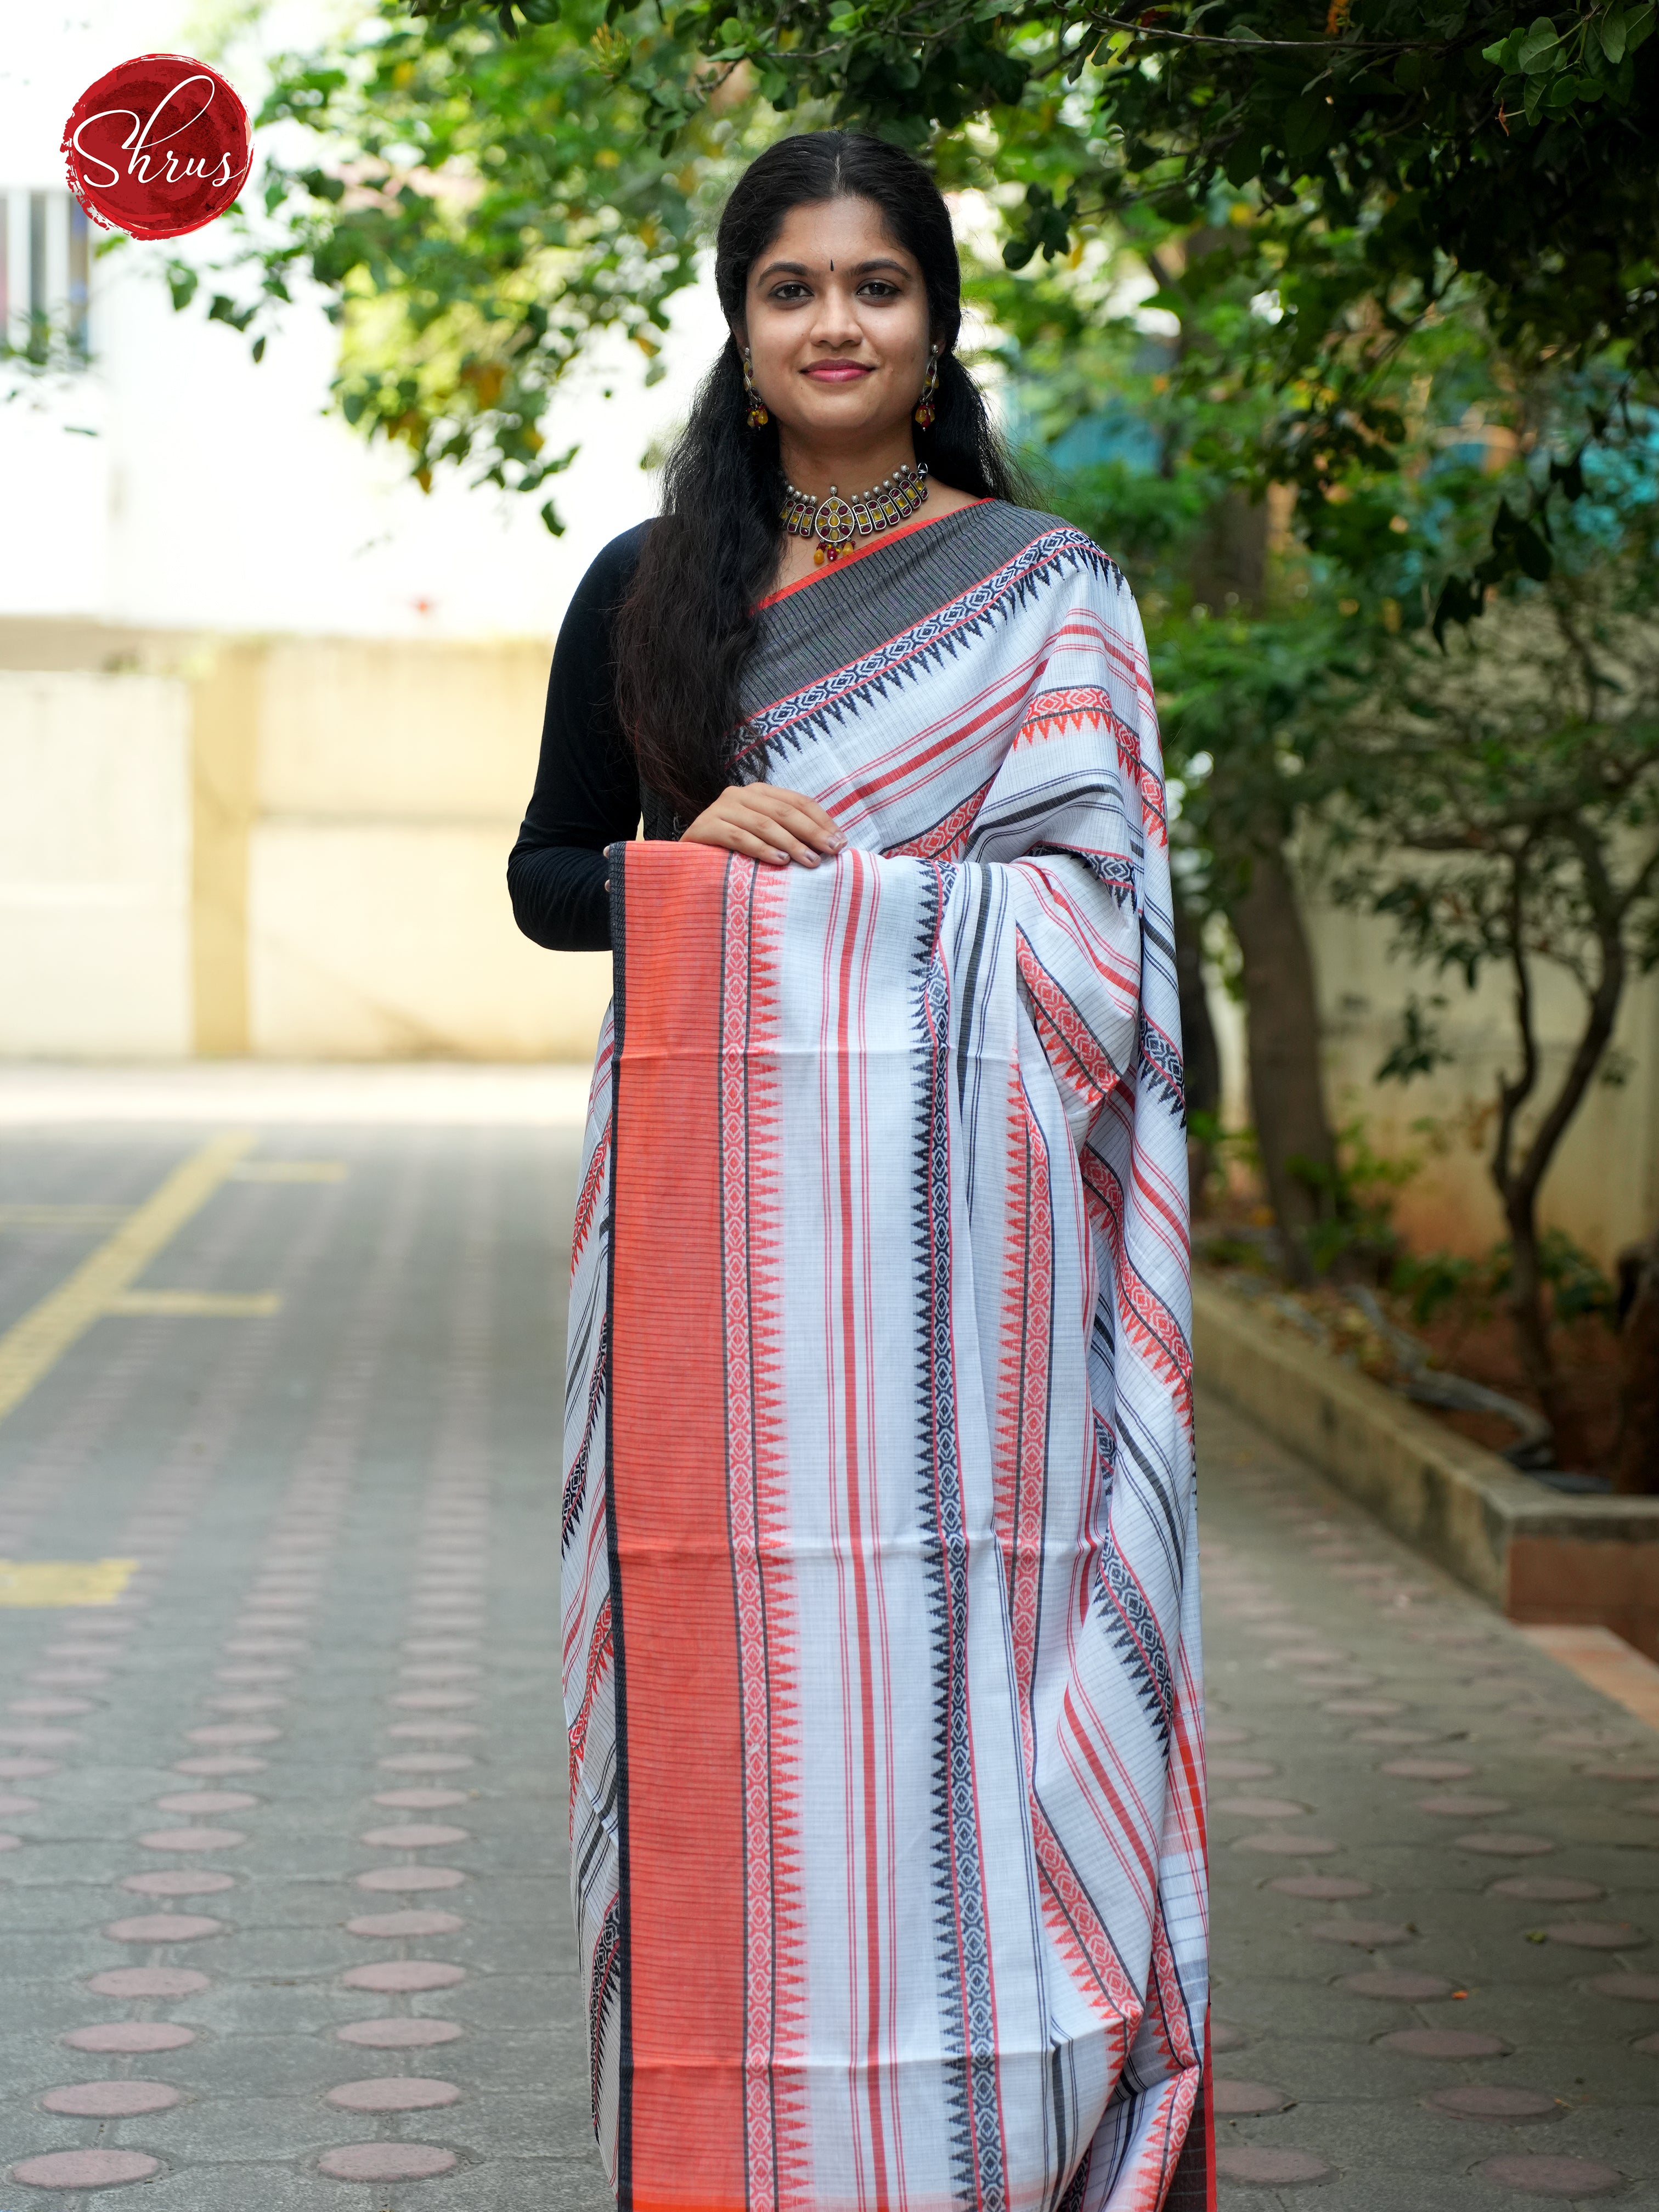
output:
[[[553, 531], [544, 487], [571, 460], [549, 445], [553, 392], [604, 332], [655, 365], [697, 274], [699, 188], [743, 144], [714, 102], [664, 157], [646, 100], [597, 69], [599, 33], [604, 0], [533, 38], [365, 0], [352, 38], [279, 58], [257, 124], [301, 126], [316, 148], [265, 164], [208, 307], [259, 356], [303, 272], [341, 330], [345, 418], [407, 447], [422, 487], [453, 465], [542, 495]], [[170, 274], [186, 305], [201, 272], [179, 259]]]

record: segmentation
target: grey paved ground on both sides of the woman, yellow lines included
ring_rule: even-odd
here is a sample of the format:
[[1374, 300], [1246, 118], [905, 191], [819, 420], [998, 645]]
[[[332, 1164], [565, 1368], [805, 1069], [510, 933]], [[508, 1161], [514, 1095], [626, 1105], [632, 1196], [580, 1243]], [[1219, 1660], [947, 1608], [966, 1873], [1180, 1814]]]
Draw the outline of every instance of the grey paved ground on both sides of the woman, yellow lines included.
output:
[[[575, 1130], [215, 1141], [0, 1130], [0, 1557], [137, 1562], [0, 1568], [0, 2212], [602, 2212]], [[1217, 1405], [1203, 1451], [1223, 2203], [1659, 2205], [1659, 1736]]]

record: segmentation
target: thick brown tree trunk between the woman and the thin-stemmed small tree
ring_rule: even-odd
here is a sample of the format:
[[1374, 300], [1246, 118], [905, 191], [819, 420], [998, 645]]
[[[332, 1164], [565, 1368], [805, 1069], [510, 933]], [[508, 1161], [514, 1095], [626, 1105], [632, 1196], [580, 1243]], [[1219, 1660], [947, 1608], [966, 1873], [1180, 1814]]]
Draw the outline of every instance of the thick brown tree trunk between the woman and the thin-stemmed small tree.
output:
[[1250, 1104], [1261, 1170], [1294, 1281], [1314, 1274], [1310, 1232], [1336, 1217], [1336, 1139], [1318, 1066], [1318, 998], [1296, 885], [1276, 847], [1256, 849], [1230, 911], [1250, 1013]]

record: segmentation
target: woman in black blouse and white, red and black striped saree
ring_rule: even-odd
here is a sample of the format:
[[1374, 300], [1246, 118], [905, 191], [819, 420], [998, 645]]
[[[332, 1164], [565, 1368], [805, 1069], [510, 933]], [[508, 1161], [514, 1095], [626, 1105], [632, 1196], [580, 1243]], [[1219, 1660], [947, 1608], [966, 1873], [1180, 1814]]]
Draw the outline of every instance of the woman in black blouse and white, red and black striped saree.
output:
[[1009, 500], [909, 155], [774, 146], [717, 283], [732, 343], [575, 595], [509, 872], [533, 938], [615, 951], [564, 1486], [595, 2130], [641, 2212], [1197, 2208], [1141, 624]]

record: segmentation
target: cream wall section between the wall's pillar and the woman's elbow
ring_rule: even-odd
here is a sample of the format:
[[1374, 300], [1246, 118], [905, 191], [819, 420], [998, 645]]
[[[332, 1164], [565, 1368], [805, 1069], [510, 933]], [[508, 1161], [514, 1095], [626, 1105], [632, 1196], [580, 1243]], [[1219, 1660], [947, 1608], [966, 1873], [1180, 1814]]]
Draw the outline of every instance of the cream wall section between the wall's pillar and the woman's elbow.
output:
[[549, 646], [281, 639], [259, 695], [248, 1042], [281, 1060], [586, 1060], [606, 953], [518, 931], [507, 852]]

